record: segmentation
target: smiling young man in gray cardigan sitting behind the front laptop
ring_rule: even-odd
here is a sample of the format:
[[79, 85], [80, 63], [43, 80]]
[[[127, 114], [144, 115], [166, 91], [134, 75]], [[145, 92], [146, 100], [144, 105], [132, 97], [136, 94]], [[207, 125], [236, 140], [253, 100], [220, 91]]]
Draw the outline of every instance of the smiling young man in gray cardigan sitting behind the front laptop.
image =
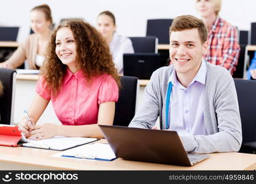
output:
[[242, 131], [235, 83], [227, 69], [202, 59], [206, 26], [191, 15], [180, 16], [169, 35], [172, 64], [153, 72], [129, 126], [155, 128], [160, 116], [161, 129], [177, 131], [187, 152], [238, 151]]

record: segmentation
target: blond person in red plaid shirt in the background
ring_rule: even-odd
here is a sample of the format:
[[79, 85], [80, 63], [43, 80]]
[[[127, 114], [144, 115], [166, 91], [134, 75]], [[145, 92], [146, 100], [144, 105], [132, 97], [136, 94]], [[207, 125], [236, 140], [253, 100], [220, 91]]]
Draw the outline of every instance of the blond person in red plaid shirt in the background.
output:
[[225, 67], [230, 74], [236, 71], [240, 46], [238, 31], [219, 17], [221, 0], [196, 0], [196, 10], [208, 28], [208, 53], [204, 59]]

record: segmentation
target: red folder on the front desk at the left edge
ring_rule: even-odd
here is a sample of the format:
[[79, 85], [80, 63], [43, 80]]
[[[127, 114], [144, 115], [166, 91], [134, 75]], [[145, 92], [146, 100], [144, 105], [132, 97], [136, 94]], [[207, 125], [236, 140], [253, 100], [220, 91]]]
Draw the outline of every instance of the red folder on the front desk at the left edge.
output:
[[18, 126], [0, 126], [0, 145], [7, 147], [18, 147], [21, 139], [21, 131]]

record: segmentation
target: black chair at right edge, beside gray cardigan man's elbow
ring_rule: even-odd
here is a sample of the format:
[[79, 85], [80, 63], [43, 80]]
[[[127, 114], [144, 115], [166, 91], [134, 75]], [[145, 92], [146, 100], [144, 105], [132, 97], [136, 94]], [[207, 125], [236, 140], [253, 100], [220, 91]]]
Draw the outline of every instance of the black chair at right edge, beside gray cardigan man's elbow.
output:
[[242, 123], [242, 147], [239, 152], [256, 151], [256, 81], [234, 79]]

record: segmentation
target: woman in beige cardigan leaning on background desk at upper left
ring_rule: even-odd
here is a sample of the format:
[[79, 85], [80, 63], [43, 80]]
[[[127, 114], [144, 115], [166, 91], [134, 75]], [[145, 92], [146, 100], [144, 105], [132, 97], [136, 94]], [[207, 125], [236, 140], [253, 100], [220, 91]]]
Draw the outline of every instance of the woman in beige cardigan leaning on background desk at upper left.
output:
[[29, 69], [39, 69], [45, 59], [45, 52], [52, 33], [52, 13], [46, 4], [36, 6], [30, 12], [31, 28], [34, 34], [30, 34], [14, 54], [0, 67], [15, 69], [28, 59]]

